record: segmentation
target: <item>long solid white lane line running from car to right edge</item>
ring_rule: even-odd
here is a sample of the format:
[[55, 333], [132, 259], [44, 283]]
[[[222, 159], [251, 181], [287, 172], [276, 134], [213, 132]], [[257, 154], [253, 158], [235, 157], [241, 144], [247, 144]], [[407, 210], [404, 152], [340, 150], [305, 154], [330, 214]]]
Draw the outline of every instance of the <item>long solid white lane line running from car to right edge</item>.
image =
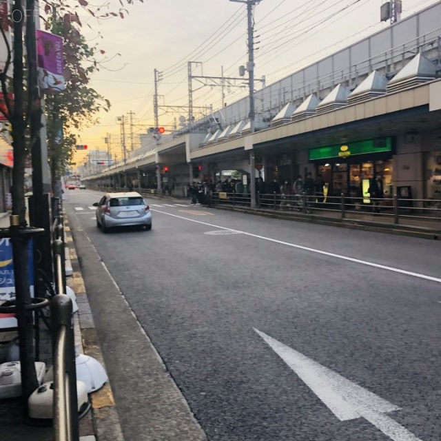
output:
[[309, 252], [313, 252], [313, 253], [316, 253], [316, 254], [322, 254], [323, 256], [334, 257], [334, 258], [338, 258], [338, 259], [342, 259], [342, 260], [347, 260], [347, 261], [353, 262], [353, 263], [360, 263], [361, 265], [367, 265], [368, 267], [385, 269], [387, 271], [392, 271], [394, 273], [405, 274], [406, 276], [412, 276], [412, 277], [422, 278], [424, 280], [431, 280], [432, 282], [441, 283], [441, 278], [438, 278], [438, 277], [427, 276], [426, 274], [415, 273], [413, 271], [406, 271], [405, 269], [388, 267], [387, 265], [380, 265], [379, 263], [368, 262], [367, 260], [356, 259], [356, 258], [349, 257], [349, 256], [342, 256], [341, 254], [329, 253], [327, 251], [322, 251], [321, 249], [304, 247], [303, 245], [296, 245], [295, 243], [289, 243], [289, 242], [285, 242], [283, 240], [277, 240], [277, 239], [272, 239], [272, 238], [265, 237], [265, 236], [259, 236], [258, 234], [252, 234], [252, 233], [248, 233], [248, 232], [243, 232], [243, 231], [240, 231], [239, 229], [220, 227], [220, 225], [214, 225], [212, 223], [203, 222], [202, 220], [185, 218], [184, 216], [178, 216], [177, 214], [161, 212], [161, 211], [159, 211], [157, 209], [154, 210], [154, 211], [157, 212], [157, 213], [161, 213], [161, 214], [167, 214], [167, 216], [172, 216], [174, 218], [188, 220], [189, 222], [200, 223], [201, 225], [207, 225], [208, 227], [214, 227], [214, 228], [218, 228], [218, 229], [225, 229], [225, 230], [230, 231], [230, 232], [236, 232], [236, 233], [245, 234], [245, 236], [250, 236], [250, 237], [254, 237], [254, 238], [257, 238], [257, 239], [261, 239], [261, 240], [267, 240], [268, 242], [278, 243], [280, 245], [286, 245], [287, 247], [303, 249], [304, 251], [309, 251]]

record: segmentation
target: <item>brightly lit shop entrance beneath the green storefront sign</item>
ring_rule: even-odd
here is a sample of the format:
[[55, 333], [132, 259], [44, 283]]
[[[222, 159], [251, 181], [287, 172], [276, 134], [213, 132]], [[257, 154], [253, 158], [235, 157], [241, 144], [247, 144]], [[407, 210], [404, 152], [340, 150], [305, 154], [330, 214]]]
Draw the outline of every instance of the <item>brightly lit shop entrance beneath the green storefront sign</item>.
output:
[[[384, 196], [393, 194], [392, 160], [385, 161], [351, 161], [345, 163], [325, 163], [317, 166], [317, 173], [327, 183], [329, 196], [340, 196], [342, 193], [353, 198], [369, 198], [369, 180], [379, 174], [383, 181]], [[369, 200], [366, 201], [369, 203]]]

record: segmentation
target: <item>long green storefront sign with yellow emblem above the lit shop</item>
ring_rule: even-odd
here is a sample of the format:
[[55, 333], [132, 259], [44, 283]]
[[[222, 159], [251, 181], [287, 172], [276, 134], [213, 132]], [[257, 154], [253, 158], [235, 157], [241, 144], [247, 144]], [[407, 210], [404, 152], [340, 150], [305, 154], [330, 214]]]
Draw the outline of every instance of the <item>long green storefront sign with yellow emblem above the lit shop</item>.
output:
[[375, 154], [392, 151], [392, 139], [369, 139], [367, 141], [357, 141], [356, 143], [331, 145], [330, 147], [320, 147], [309, 150], [309, 161], [330, 158], [347, 158], [357, 154]]

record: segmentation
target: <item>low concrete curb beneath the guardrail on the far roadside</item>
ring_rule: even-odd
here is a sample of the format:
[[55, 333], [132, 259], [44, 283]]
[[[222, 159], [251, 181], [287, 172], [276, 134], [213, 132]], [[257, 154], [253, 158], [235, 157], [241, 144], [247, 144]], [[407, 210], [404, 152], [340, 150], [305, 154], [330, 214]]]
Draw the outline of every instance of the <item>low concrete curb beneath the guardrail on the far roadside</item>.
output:
[[281, 214], [276, 212], [263, 212], [258, 209], [227, 207], [225, 205], [214, 205], [214, 209], [243, 214], [253, 214], [254, 216], [265, 216], [274, 219], [291, 220], [294, 222], [315, 223], [318, 225], [328, 225], [331, 227], [360, 229], [369, 232], [397, 234], [399, 236], [410, 236], [431, 240], [441, 240], [441, 230], [429, 229], [424, 227], [411, 227], [409, 225], [391, 225], [384, 223], [373, 223], [369, 220], [341, 219], [326, 217], [306, 217], [295, 216], [293, 214]]

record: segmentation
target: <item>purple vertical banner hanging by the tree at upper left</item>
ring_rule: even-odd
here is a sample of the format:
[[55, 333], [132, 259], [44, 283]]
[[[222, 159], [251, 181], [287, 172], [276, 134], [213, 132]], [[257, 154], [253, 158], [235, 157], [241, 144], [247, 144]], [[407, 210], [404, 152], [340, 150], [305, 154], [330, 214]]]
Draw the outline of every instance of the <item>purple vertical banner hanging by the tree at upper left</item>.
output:
[[63, 37], [37, 30], [39, 87], [49, 93], [64, 90]]

